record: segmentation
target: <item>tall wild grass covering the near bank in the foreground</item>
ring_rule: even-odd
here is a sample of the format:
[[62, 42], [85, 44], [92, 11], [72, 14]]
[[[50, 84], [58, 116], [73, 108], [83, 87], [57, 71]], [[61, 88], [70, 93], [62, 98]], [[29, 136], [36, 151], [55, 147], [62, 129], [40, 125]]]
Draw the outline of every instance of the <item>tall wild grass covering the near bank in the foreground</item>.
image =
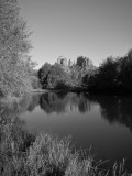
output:
[[18, 118], [0, 123], [1, 176], [130, 176], [124, 162], [114, 164], [112, 170], [102, 169], [103, 162], [74, 150], [70, 138], [59, 139], [43, 131], [34, 135], [21, 124]]

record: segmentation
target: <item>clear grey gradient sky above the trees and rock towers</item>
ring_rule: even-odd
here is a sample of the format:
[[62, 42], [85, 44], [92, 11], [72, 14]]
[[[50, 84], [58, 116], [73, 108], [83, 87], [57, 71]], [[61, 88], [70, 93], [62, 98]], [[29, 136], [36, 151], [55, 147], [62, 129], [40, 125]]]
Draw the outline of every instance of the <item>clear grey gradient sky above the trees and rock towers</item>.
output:
[[38, 68], [82, 55], [98, 66], [132, 48], [132, 0], [19, 0]]

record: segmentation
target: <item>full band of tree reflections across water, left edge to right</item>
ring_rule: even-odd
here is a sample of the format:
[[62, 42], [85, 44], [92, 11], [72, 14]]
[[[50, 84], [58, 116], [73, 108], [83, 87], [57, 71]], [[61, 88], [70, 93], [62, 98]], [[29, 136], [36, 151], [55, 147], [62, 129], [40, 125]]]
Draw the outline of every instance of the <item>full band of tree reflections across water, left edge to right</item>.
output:
[[90, 96], [88, 94], [48, 92], [44, 95], [26, 95], [19, 103], [0, 103], [0, 112], [7, 117], [33, 112], [36, 107], [52, 114], [68, 113], [77, 110], [88, 113], [94, 107], [100, 107], [100, 114], [110, 124], [119, 123], [132, 131], [132, 97]]

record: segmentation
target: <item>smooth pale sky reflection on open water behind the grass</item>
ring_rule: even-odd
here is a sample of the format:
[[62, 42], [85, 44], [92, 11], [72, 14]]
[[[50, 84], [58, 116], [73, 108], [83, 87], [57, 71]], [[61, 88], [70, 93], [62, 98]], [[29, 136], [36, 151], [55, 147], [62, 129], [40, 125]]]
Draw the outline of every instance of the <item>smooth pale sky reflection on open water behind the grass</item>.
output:
[[[78, 101], [79, 102], [79, 101]], [[101, 117], [101, 107], [92, 101], [89, 111], [79, 112], [77, 105], [66, 112], [46, 113], [36, 107], [32, 113], [25, 112], [24, 119], [29, 130], [43, 129], [59, 136], [72, 135], [77, 148], [91, 146], [99, 158], [132, 158], [132, 134], [127, 127], [110, 124]]]

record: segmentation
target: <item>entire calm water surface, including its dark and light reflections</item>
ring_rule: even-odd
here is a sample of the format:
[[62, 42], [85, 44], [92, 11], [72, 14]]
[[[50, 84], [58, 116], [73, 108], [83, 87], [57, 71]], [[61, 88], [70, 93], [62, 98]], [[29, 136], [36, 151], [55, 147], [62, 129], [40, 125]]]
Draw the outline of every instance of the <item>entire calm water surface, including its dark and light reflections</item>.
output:
[[29, 131], [72, 135], [76, 148], [91, 147], [98, 160], [132, 165], [132, 97], [48, 92], [25, 97], [16, 109]]

